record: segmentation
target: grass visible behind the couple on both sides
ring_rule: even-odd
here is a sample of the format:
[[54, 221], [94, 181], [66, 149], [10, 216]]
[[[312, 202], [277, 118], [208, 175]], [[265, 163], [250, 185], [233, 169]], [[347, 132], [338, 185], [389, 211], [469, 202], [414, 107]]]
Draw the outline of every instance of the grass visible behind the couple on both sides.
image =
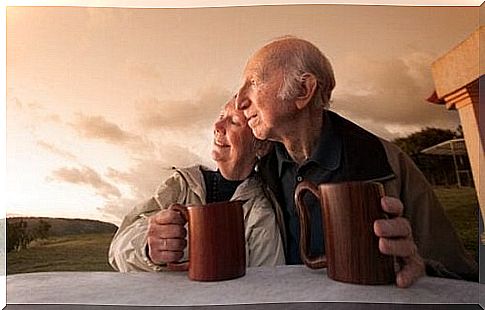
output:
[[[465, 248], [478, 260], [478, 202], [472, 188], [436, 188]], [[7, 274], [41, 271], [113, 271], [108, 264], [112, 233], [51, 237], [7, 254]]]

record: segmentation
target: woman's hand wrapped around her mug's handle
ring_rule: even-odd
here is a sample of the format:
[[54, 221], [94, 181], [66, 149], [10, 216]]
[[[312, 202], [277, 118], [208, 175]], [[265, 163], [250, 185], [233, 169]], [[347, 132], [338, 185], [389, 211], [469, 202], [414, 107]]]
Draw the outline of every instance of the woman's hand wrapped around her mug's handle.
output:
[[148, 256], [155, 264], [179, 261], [187, 245], [185, 220], [179, 212], [162, 210], [148, 218]]

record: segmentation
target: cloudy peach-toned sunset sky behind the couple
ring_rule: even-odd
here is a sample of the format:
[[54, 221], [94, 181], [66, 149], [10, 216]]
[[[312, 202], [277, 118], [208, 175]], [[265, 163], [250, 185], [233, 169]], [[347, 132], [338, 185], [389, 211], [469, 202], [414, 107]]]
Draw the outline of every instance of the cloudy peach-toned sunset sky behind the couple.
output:
[[291, 34], [330, 59], [331, 109], [392, 140], [456, 129], [426, 102], [431, 64], [478, 7], [8, 7], [7, 216], [119, 224], [172, 166], [210, 159], [212, 122], [249, 56]]

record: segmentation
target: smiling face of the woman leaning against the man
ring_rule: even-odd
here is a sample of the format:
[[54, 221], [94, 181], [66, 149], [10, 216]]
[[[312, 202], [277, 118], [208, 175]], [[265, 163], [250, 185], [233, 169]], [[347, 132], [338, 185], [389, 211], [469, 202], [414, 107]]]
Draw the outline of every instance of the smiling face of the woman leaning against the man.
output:
[[222, 175], [229, 180], [249, 176], [256, 162], [254, 136], [244, 114], [229, 101], [214, 123], [212, 159]]

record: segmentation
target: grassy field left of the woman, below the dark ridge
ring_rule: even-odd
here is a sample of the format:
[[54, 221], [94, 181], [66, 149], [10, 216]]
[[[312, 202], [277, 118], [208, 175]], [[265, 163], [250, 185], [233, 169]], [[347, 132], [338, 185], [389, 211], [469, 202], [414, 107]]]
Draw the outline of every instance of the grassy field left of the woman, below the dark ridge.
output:
[[113, 271], [108, 248], [113, 234], [81, 234], [36, 241], [7, 254], [7, 275], [40, 271]]

